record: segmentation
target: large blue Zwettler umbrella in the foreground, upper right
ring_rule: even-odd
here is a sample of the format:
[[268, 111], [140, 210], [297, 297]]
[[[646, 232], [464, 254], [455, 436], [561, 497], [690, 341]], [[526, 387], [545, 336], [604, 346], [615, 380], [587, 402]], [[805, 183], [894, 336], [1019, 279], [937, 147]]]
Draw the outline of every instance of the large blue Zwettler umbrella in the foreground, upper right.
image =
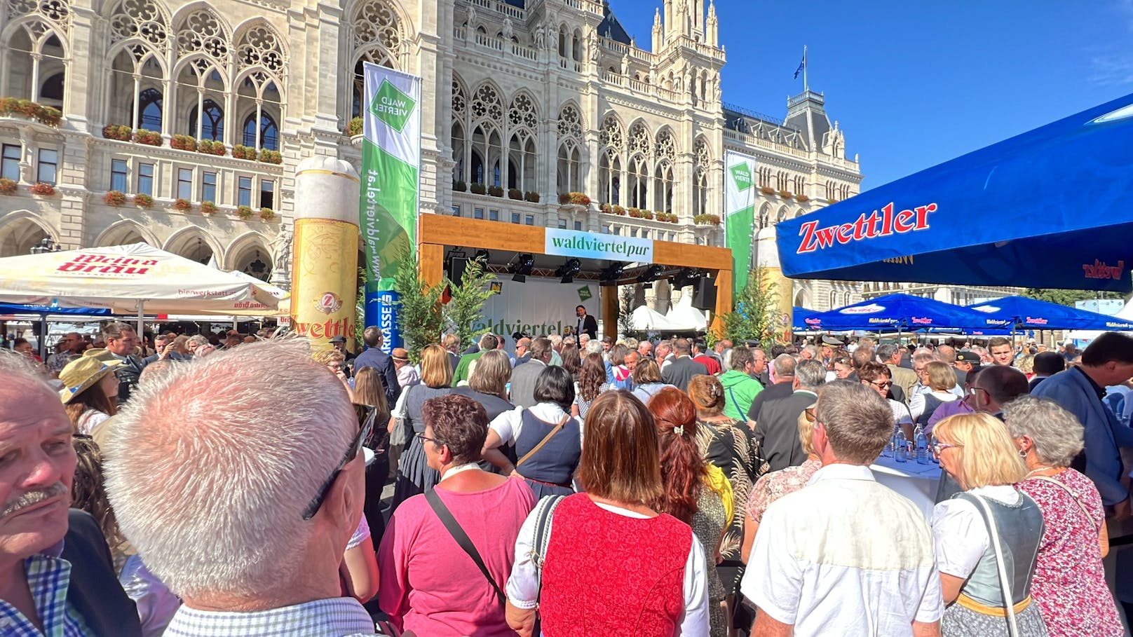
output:
[[1130, 291], [1133, 95], [776, 228], [787, 277]]

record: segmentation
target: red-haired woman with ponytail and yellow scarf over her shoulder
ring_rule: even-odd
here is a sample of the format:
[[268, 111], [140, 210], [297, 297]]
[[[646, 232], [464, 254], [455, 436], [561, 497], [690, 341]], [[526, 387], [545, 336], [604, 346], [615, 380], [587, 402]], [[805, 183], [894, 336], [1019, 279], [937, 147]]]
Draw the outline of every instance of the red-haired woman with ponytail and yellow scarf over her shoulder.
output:
[[[697, 408], [685, 393], [665, 388], [649, 399], [657, 427], [661, 479], [664, 492], [651, 502], [692, 527], [705, 557], [715, 562], [724, 528], [732, 519], [732, 484], [719, 467], [705, 462], [697, 444]], [[726, 597], [716, 569], [708, 574], [708, 621], [712, 637], [727, 635]]]

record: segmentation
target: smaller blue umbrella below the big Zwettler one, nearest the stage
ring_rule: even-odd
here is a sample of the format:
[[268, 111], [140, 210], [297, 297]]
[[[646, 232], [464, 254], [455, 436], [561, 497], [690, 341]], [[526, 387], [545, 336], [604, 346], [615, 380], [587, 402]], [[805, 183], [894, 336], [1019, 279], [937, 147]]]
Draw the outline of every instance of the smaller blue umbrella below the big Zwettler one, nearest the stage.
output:
[[809, 330], [901, 330], [931, 328], [982, 328], [987, 316], [966, 307], [931, 298], [895, 294], [830, 309], [801, 311], [795, 324]]

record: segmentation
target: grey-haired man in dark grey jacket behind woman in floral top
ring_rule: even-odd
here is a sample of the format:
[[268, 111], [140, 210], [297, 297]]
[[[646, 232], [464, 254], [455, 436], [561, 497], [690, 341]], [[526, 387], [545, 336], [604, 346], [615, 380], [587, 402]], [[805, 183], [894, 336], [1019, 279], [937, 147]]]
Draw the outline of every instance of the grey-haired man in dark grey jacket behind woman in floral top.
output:
[[802, 360], [794, 370], [791, 396], [768, 400], [756, 416], [756, 442], [770, 470], [801, 465], [807, 460], [799, 442], [799, 416], [815, 404], [818, 388], [826, 384], [826, 368], [818, 360]]

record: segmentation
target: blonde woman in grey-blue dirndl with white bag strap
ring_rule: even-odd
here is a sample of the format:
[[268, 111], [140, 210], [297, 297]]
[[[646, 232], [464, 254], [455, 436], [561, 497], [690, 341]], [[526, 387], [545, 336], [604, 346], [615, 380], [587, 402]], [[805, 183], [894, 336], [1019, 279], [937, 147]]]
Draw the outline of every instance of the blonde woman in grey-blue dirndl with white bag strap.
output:
[[936, 506], [932, 537], [947, 609], [944, 637], [1046, 637], [1031, 578], [1042, 511], [1014, 484], [1026, 476], [1003, 423], [961, 414], [937, 423], [932, 453], [964, 491]]

